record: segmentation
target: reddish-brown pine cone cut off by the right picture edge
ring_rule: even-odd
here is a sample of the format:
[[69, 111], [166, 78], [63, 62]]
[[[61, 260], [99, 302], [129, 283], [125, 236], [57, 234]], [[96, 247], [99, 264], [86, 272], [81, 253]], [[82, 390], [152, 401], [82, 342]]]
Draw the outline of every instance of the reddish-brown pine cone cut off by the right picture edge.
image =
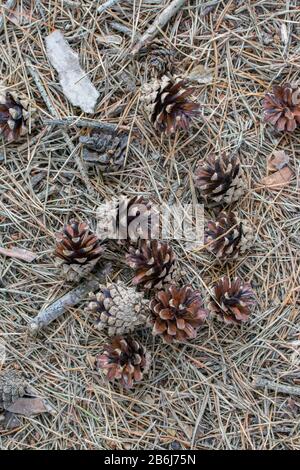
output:
[[278, 131], [293, 132], [300, 124], [300, 88], [286, 83], [273, 86], [263, 100], [264, 120]]

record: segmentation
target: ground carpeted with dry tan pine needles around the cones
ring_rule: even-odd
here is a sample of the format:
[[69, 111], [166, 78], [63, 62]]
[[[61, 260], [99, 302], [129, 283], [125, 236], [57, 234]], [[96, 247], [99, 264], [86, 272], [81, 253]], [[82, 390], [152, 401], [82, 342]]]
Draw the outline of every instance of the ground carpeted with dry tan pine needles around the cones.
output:
[[[176, 73], [188, 74], [201, 64], [212, 79], [196, 84], [201, 115], [191, 132], [170, 139], [160, 139], [139, 109], [139, 87], [148, 70], [129, 55], [138, 34], [168, 1], [121, 1], [102, 14], [96, 13], [100, 2], [90, 0], [17, 3], [17, 10], [6, 13], [0, 35], [0, 79], [29, 97], [39, 119], [30, 138], [0, 146], [0, 243], [38, 257], [25, 263], [1, 256], [0, 339], [7, 347], [4, 367], [22, 370], [57, 414], [27, 418], [17, 430], [0, 432], [0, 447], [299, 449], [300, 133], [276, 134], [261, 119], [270, 86], [299, 77], [297, 0], [185, 3], [159, 38], [175, 49]], [[117, 32], [113, 22], [128, 28], [127, 34]], [[54, 29], [64, 32], [101, 94], [95, 115], [81, 115], [62, 93], [45, 53], [44, 39]], [[70, 151], [63, 129], [43, 124], [51, 114], [29, 61], [59, 118], [85, 117], [129, 130], [124, 168], [106, 176], [89, 169], [86, 180], [78, 166], [78, 142], [88, 131], [76, 125], [66, 130], [74, 145]], [[82, 305], [37, 338], [28, 336], [30, 319], [70, 289], [52, 258], [54, 234], [63, 222], [79, 215], [95, 226], [98, 205], [120, 194], [195, 202], [196, 163], [220, 148], [240, 154], [248, 191], [235, 209], [253, 227], [253, 247], [222, 265], [203, 248], [172, 245], [185, 281], [203, 296], [224, 274], [251, 281], [258, 305], [249, 323], [239, 328], [210, 320], [188, 345], [164, 345], [143, 330], [139, 335], [153, 363], [131, 391], [93, 371], [91, 358], [104, 336]], [[294, 174], [279, 191], [260, 184], [274, 150], [287, 153]], [[105, 259], [113, 262], [112, 278], [130, 280], [118, 253], [108, 248]]]

